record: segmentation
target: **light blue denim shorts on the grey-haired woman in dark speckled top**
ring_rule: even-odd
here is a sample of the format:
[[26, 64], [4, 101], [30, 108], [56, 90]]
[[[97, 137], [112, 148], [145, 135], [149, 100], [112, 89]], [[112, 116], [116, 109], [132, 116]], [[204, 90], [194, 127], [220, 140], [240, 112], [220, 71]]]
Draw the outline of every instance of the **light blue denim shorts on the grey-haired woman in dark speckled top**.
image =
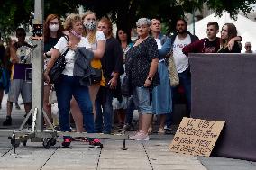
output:
[[133, 101], [138, 111], [142, 114], [152, 114], [152, 104], [150, 90], [146, 87], [136, 87], [133, 89]]

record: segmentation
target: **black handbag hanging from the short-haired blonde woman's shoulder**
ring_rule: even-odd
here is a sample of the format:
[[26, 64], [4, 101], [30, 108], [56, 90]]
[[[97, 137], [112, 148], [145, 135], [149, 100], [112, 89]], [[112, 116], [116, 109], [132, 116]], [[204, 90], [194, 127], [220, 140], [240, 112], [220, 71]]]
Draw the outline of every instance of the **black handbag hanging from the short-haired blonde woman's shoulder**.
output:
[[[64, 36], [64, 38], [69, 42], [69, 38]], [[53, 67], [51, 67], [49, 71], [50, 83], [57, 84], [59, 83], [60, 75], [66, 67], [66, 59], [65, 56], [68, 53], [69, 49], [59, 56], [59, 58], [55, 61]]]

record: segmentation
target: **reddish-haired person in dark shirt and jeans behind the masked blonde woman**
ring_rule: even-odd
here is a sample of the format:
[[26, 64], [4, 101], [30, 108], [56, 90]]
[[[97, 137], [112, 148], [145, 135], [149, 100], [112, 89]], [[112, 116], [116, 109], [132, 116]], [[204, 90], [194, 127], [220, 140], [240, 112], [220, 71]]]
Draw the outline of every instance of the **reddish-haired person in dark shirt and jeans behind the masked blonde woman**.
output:
[[96, 97], [95, 130], [110, 134], [114, 114], [112, 100], [114, 92], [120, 89], [119, 76], [123, 74], [123, 50], [118, 40], [113, 37], [109, 19], [103, 18], [99, 21], [98, 31], [103, 31], [106, 39], [105, 53], [101, 58], [106, 85], [100, 87]]

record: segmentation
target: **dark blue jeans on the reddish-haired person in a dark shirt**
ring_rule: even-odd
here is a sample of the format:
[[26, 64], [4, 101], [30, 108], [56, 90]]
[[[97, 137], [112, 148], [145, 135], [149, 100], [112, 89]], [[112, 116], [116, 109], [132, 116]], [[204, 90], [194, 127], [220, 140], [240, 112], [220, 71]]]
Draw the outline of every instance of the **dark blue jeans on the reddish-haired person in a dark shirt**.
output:
[[107, 87], [100, 87], [96, 97], [96, 120], [95, 129], [97, 133], [110, 134], [113, 123], [113, 94]]

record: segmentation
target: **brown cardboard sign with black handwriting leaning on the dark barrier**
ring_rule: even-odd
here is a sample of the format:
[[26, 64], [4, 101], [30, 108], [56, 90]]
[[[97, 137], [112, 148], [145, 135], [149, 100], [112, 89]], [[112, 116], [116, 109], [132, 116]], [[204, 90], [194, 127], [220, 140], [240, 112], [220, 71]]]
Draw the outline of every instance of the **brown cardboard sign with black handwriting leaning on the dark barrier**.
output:
[[183, 118], [169, 146], [173, 152], [194, 156], [210, 156], [224, 121]]

